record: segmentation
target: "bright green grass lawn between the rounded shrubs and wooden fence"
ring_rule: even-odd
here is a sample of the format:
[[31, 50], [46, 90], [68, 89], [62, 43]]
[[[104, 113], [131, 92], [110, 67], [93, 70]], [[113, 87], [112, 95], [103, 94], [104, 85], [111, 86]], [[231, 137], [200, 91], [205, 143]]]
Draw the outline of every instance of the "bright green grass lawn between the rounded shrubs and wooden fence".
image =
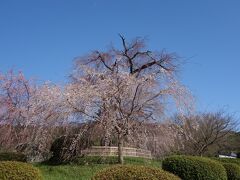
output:
[[[136, 164], [144, 166], [161, 167], [161, 161], [146, 160], [143, 158], [125, 158], [125, 164]], [[44, 180], [87, 180], [99, 170], [111, 166], [111, 164], [89, 164], [89, 165], [58, 165], [50, 166], [36, 164], [42, 172]]]

